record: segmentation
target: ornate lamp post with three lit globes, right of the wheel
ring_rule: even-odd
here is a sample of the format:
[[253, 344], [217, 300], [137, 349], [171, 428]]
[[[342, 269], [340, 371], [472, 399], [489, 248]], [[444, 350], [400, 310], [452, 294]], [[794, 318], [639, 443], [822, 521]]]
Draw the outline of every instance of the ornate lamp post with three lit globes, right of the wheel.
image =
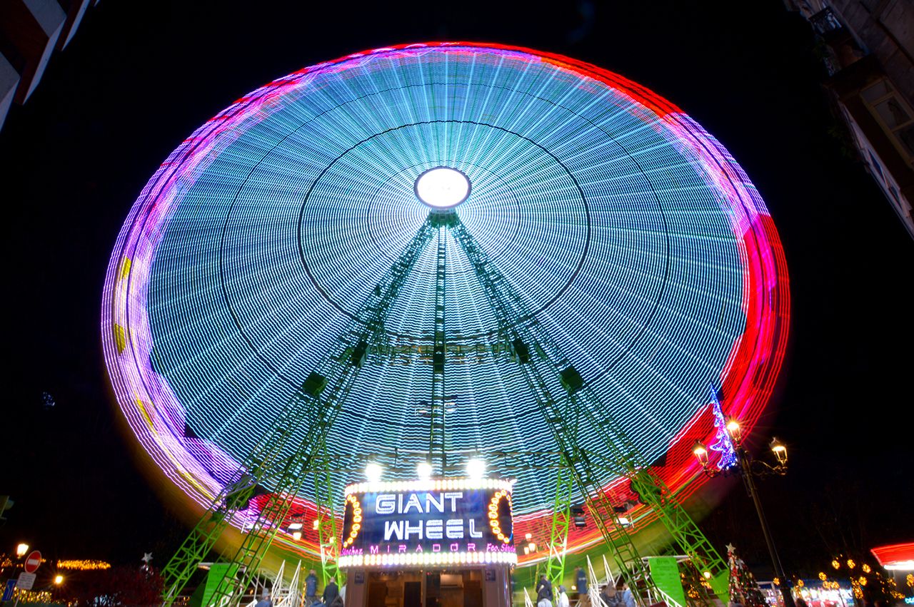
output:
[[778, 550], [774, 548], [774, 539], [771, 538], [771, 530], [768, 529], [768, 520], [765, 518], [765, 512], [761, 508], [759, 490], [755, 486], [756, 476], [784, 476], [787, 474], [787, 447], [777, 438], [771, 439], [769, 447], [771, 448], [771, 453], [774, 455], [774, 458], [777, 460], [777, 464], [771, 466], [771, 464], [753, 458], [752, 454], [743, 446], [742, 428], [740, 427], [738, 420], [728, 418], [726, 428], [730, 441], [733, 443], [733, 451], [737, 457], [737, 466], [724, 469], [710, 466], [707, 461], [707, 447], [702, 445], [700, 441], [696, 441], [692, 452], [695, 454], [698, 463], [701, 464], [705, 474], [711, 478], [717, 475], [728, 476], [730, 474], [742, 476], [743, 483], [746, 485], [746, 490], [749, 492], [749, 497], [752, 498], [752, 503], [755, 504], [755, 511], [759, 515], [761, 532], [765, 537], [765, 543], [768, 545], [768, 552], [771, 555], [771, 564], [774, 566], [774, 575], [781, 580], [779, 587], [781, 588], [781, 596], [784, 599], [784, 607], [796, 607], [796, 603], [793, 602], [793, 595], [787, 584], [787, 576], [784, 575], [784, 569], [781, 566], [781, 558], [778, 556]]

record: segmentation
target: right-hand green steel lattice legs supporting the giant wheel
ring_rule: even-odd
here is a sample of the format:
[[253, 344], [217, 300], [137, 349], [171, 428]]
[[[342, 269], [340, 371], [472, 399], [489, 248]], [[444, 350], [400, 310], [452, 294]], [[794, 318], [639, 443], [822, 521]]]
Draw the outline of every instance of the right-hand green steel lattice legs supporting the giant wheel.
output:
[[[489, 298], [500, 330], [514, 344], [515, 360], [523, 370], [531, 391], [543, 414], [563, 458], [569, 464], [569, 473], [579, 493], [585, 498], [600, 534], [610, 548], [612, 558], [622, 577], [632, 587], [642, 588], [647, 596], [658, 596], [647, 566], [641, 559], [632, 536], [619, 520], [611, 496], [600, 485], [595, 474], [600, 468], [591, 461], [590, 454], [577, 440], [578, 424], [600, 429], [602, 446], [610, 454], [610, 467], [620, 476], [627, 476], [642, 502], [653, 508], [664, 527], [675, 539], [676, 545], [690, 557], [696, 568], [719, 580], [727, 573], [727, 564], [717, 550], [698, 529], [695, 521], [685, 512], [663, 479], [657, 476], [649, 463], [632, 444], [622, 426], [615, 422], [610, 412], [600, 403], [596, 393], [584, 382], [579, 373], [558, 349], [536, 317], [526, 309], [526, 304], [510, 283], [486, 256], [460, 219], [454, 216], [451, 230], [469, 259], [480, 285]], [[531, 351], [532, 350], [532, 351]], [[554, 394], [565, 392], [562, 397]], [[557, 502], [558, 504], [558, 502]], [[567, 521], [554, 519], [552, 541], [557, 541], [564, 529], [567, 539]], [[563, 540], [564, 541], [564, 540]], [[558, 550], [557, 550], [558, 551]], [[550, 548], [550, 560], [552, 549]], [[547, 571], [563, 570], [563, 562], [547, 564]], [[717, 591], [717, 588], [715, 589]], [[639, 595], [636, 592], [636, 595]], [[645, 596], [638, 600], [645, 602]]]

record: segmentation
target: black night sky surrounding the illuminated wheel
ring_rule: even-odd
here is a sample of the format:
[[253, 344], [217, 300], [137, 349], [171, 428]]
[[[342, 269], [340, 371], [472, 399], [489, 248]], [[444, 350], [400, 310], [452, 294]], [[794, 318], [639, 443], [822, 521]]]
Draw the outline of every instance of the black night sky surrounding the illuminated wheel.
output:
[[[0, 131], [0, 493], [16, 505], [0, 551], [27, 541], [52, 559], [139, 564], [152, 550], [162, 566], [186, 534], [119, 429], [99, 335], [114, 239], [168, 153], [273, 78], [357, 50], [444, 39], [611, 69], [723, 142], [771, 210], [791, 274], [790, 350], [776, 406], [753, 437], [765, 445], [774, 434], [790, 449], [789, 475], [760, 486], [781, 560], [814, 576], [839, 549], [914, 539], [914, 241], [829, 109], [801, 16], [777, 0], [295, 4], [102, 2], [27, 105], [10, 111]], [[721, 550], [732, 541], [764, 578], [770, 565], [745, 491], [712, 484], [729, 492], [703, 523], [708, 536]]]

